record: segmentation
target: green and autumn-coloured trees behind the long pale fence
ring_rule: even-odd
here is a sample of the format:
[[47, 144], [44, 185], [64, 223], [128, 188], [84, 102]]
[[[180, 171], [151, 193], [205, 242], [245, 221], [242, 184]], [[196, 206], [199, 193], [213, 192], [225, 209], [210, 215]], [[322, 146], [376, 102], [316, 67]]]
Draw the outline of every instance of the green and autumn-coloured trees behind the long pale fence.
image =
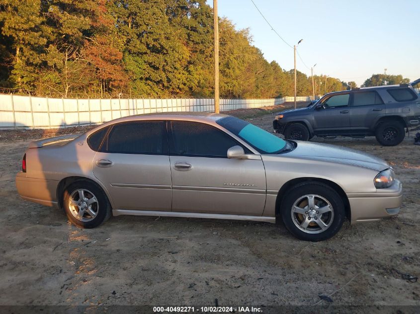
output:
[[[221, 97], [293, 95], [293, 70], [268, 63], [248, 29], [221, 18], [219, 34]], [[1, 87], [38, 95], [213, 97], [212, 9], [205, 0], [0, 0], [0, 64]], [[346, 88], [314, 80], [316, 94]], [[312, 95], [300, 71], [297, 94]]]

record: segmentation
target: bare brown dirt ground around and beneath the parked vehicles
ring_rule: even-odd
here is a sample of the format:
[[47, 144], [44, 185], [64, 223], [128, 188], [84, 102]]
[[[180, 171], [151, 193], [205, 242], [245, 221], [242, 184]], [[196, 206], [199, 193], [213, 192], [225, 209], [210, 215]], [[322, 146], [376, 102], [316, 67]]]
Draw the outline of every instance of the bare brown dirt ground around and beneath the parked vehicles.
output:
[[[231, 114], [272, 131], [271, 113], [281, 109]], [[282, 225], [231, 220], [118, 216], [78, 229], [63, 211], [20, 199], [14, 184], [28, 142], [56, 133], [0, 131], [0, 305], [314, 305], [319, 295], [333, 305], [420, 305], [420, 281], [404, 275], [420, 276], [413, 133], [396, 147], [373, 137], [313, 139], [385, 159], [404, 186], [398, 217], [346, 222], [320, 243]]]

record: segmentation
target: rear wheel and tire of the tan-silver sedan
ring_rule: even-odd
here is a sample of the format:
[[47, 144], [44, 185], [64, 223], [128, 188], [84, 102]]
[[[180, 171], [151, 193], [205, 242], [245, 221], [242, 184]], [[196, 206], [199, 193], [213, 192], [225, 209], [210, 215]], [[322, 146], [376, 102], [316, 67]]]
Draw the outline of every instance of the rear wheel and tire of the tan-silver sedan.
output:
[[[82, 195], [84, 195], [82, 201], [80, 190], [83, 190]], [[95, 228], [111, 216], [111, 205], [105, 192], [94, 183], [84, 180], [76, 181], [64, 190], [63, 207], [69, 220], [80, 228]], [[79, 212], [82, 213], [78, 216], [80, 218], [76, 214]]]

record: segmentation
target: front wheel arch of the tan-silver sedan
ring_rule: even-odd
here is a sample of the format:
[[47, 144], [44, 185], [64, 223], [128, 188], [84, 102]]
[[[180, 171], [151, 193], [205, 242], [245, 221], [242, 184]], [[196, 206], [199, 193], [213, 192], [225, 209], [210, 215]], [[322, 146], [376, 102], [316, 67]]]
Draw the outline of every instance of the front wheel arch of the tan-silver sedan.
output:
[[[348, 197], [345, 194], [344, 190], [337, 185], [335, 182], [327, 180], [327, 179], [321, 179], [321, 178], [312, 178], [312, 177], [303, 177], [303, 178], [296, 178], [296, 179], [292, 179], [288, 182], [286, 182], [278, 191], [277, 193], [277, 197], [276, 197], [276, 202], [275, 202], [275, 214], [276, 217], [280, 218], [280, 208], [281, 208], [281, 203], [283, 201], [284, 196], [286, 195], [286, 192], [296, 186], [297, 184], [300, 183], [307, 183], [307, 182], [318, 182], [318, 183], [323, 183], [325, 185], [328, 185], [330, 188], [333, 188], [338, 195], [340, 195], [343, 203], [344, 203], [344, 210], [345, 210], [345, 215], [347, 217], [347, 219], [349, 221], [351, 221], [351, 210], [350, 210], [350, 202], [348, 201]], [[281, 218], [280, 218], [281, 219]]]

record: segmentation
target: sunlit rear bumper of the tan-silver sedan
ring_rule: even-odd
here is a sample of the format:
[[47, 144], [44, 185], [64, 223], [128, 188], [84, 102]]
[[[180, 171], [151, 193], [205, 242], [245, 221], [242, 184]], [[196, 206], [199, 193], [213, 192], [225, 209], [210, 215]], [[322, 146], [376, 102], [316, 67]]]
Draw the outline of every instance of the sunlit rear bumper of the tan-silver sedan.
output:
[[25, 200], [45, 206], [58, 206], [56, 194], [58, 183], [55, 180], [27, 178], [23, 172], [16, 175], [19, 195]]

